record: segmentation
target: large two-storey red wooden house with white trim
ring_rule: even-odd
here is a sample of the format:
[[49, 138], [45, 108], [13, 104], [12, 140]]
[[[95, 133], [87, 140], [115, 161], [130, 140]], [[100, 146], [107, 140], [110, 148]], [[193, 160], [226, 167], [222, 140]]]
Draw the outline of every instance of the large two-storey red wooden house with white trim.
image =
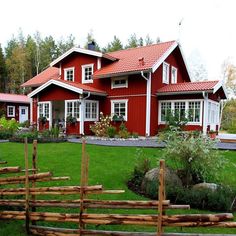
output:
[[[226, 98], [219, 81], [191, 82], [176, 41], [105, 54], [72, 48], [22, 86], [33, 88], [32, 122], [43, 116], [46, 127], [61, 122], [77, 134], [90, 134], [103, 112], [123, 116], [130, 132], [155, 135], [170, 109], [191, 114], [188, 129], [206, 133], [218, 129], [219, 101]], [[63, 123], [67, 117], [76, 124]]]

